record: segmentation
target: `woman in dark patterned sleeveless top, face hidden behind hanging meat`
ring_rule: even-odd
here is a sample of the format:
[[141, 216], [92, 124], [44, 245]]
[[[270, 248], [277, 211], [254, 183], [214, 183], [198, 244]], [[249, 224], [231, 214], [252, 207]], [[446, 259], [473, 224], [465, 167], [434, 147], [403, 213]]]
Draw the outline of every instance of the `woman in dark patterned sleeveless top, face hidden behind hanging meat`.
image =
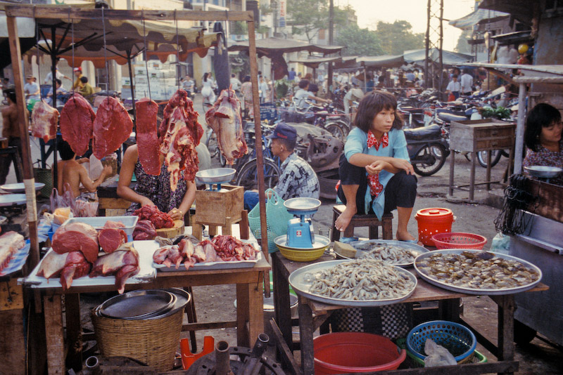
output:
[[[131, 178], [135, 173], [137, 186], [133, 189]], [[184, 215], [196, 199], [196, 184], [184, 179], [184, 171], [180, 171], [178, 186], [175, 191], [170, 189], [170, 172], [164, 163], [164, 156], [160, 154], [160, 175], [152, 176], [146, 173], [139, 162], [137, 145], [127, 147], [121, 171], [119, 173], [118, 195], [131, 202], [126, 215], [132, 215], [136, 209], [153, 204], [160, 211], [167, 212], [172, 220], [184, 220]]]

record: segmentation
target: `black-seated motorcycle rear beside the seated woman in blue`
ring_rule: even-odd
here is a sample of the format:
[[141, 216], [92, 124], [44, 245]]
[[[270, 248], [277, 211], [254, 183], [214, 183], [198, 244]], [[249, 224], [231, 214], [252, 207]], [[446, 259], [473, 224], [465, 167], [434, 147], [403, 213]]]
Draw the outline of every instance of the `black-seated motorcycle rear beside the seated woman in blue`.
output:
[[404, 129], [412, 169], [420, 176], [432, 176], [445, 164], [450, 145], [436, 124], [417, 129]]

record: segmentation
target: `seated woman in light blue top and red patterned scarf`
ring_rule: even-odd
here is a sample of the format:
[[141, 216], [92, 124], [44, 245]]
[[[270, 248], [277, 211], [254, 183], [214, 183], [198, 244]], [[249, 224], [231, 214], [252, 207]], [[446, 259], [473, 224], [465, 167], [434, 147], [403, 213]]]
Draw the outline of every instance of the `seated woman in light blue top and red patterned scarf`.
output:
[[384, 91], [369, 92], [360, 101], [356, 127], [348, 134], [340, 159], [338, 197], [346, 209], [335, 227], [343, 232], [356, 213], [375, 213], [381, 220], [384, 213], [397, 209], [397, 239], [416, 243], [407, 224], [417, 197], [417, 178], [396, 108], [393, 94]]

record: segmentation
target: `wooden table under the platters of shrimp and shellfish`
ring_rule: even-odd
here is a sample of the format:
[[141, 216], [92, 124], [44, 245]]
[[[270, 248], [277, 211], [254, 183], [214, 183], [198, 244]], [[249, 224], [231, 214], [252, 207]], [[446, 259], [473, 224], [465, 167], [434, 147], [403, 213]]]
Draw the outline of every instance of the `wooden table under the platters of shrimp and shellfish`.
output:
[[[332, 261], [334, 256], [324, 255], [313, 262], [293, 262], [289, 261], [279, 252], [270, 254], [272, 256], [272, 272], [274, 276], [274, 308], [276, 310], [276, 322], [279, 325], [289, 348], [293, 349], [293, 339], [291, 336], [291, 312], [289, 310], [289, 282], [288, 277], [291, 272], [299, 268], [321, 261]], [[414, 269], [410, 269], [415, 273]], [[417, 278], [418, 285], [415, 293], [407, 298], [403, 303], [438, 301], [438, 310], [441, 319], [462, 322], [469, 326], [460, 318], [459, 298], [474, 296], [471, 294], [447, 291]], [[547, 290], [545, 284], [538, 286], [531, 291]], [[485, 374], [498, 372], [499, 374], [512, 374], [518, 370], [518, 362], [514, 361], [514, 295], [491, 296], [491, 299], [498, 305], [498, 345], [495, 346], [487, 338], [479, 334], [473, 327], [469, 326], [474, 332], [477, 341], [489, 350], [498, 362], [485, 364], [462, 364], [452, 369], [447, 367], [434, 367], [429, 369], [403, 369], [393, 371], [381, 371], [382, 374]], [[313, 332], [320, 325], [327, 321], [334, 310], [346, 308], [340, 305], [327, 305], [312, 301], [304, 296], [299, 296], [299, 336], [301, 339], [301, 369], [303, 375], [315, 374], [315, 362], [313, 355]], [[379, 374], [379, 373], [378, 373]]]

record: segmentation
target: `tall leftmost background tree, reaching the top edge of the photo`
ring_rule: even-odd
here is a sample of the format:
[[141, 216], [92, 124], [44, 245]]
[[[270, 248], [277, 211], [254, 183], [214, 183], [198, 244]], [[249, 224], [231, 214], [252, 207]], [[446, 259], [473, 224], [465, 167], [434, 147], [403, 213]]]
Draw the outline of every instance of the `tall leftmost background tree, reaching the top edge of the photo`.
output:
[[320, 29], [329, 25], [329, 7], [327, 0], [288, 0], [288, 25], [293, 34], [305, 34], [309, 43]]

